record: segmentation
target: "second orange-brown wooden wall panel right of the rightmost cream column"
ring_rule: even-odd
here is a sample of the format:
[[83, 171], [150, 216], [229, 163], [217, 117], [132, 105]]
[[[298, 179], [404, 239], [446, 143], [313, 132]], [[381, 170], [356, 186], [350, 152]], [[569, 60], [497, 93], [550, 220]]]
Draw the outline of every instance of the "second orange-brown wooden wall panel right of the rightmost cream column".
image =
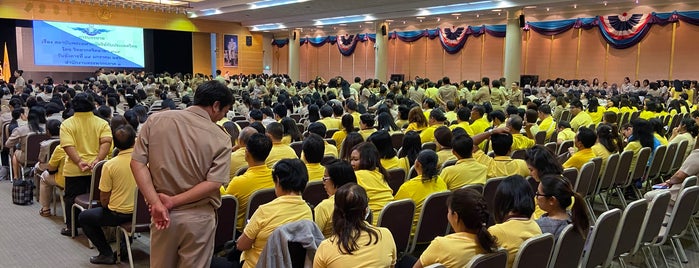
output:
[[578, 30], [556, 35], [551, 44], [551, 76], [578, 79], [575, 67], [578, 52]]

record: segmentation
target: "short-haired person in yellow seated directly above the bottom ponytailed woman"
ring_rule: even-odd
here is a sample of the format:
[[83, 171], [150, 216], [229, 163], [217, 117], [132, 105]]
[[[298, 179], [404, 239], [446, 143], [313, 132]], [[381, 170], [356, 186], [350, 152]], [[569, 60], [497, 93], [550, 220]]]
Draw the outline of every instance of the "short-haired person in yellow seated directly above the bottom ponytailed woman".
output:
[[458, 160], [455, 165], [444, 168], [439, 175], [447, 188], [453, 191], [469, 184], [485, 184], [488, 167], [472, 157], [473, 139], [468, 135], [456, 135], [451, 145]]

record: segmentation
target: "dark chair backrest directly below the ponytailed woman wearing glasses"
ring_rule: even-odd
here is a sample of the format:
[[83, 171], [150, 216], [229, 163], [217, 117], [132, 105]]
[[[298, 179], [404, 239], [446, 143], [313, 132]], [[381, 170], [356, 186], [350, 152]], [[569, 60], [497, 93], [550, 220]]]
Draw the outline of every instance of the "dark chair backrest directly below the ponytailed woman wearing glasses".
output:
[[578, 267], [584, 245], [583, 236], [575, 231], [572, 224], [568, 224], [558, 235], [548, 268]]

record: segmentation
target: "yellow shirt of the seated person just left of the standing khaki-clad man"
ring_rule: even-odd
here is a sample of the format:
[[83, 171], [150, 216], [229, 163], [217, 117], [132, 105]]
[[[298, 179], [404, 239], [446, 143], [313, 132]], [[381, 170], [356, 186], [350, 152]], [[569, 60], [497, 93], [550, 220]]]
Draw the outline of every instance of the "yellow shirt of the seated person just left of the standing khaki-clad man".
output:
[[133, 148], [120, 151], [119, 154], [104, 163], [99, 189], [102, 192], [111, 192], [109, 196], [109, 210], [130, 214], [136, 193], [136, 179], [131, 172], [131, 153]]

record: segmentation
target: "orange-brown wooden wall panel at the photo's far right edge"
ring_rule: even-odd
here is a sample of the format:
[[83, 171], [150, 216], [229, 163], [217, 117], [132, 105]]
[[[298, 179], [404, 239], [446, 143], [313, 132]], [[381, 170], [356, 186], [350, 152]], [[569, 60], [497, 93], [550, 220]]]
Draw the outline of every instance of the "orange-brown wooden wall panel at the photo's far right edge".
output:
[[[667, 31], [671, 31], [672, 25], [665, 26], [665, 28], [667, 28]], [[672, 67], [672, 79], [697, 80], [699, 78], [699, 75], [697, 75], [697, 63], [699, 63], [699, 53], [697, 53], [696, 45], [697, 37], [699, 37], [699, 26], [679, 22], [675, 37], [675, 59]]]

